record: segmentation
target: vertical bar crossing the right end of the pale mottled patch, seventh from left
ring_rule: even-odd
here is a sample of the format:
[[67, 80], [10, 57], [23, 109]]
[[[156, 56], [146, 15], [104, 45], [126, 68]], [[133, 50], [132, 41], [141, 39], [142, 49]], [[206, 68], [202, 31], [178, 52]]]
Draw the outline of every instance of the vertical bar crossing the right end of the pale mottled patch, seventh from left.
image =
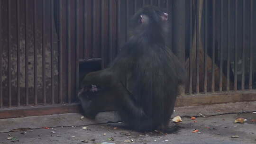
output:
[[55, 103], [55, 96], [54, 96], [54, 0], [51, 0], [51, 97], [52, 97], [52, 104]]

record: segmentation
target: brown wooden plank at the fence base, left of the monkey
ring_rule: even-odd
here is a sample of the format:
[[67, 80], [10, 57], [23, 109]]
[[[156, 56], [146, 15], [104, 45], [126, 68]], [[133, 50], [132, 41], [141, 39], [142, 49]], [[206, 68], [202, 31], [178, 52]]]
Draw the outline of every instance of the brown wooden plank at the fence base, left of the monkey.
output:
[[2, 108], [0, 109], [0, 119], [13, 117], [29, 117], [29, 116], [43, 116], [64, 113], [79, 113], [79, 104], [56, 104], [38, 107], [19, 107], [19, 108]]

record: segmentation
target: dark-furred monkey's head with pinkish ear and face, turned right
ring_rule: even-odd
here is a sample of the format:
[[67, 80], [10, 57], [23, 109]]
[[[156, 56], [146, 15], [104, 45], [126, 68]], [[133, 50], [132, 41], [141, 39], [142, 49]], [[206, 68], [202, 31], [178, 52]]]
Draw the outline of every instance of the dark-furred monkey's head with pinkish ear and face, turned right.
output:
[[168, 14], [155, 6], [145, 6], [139, 9], [130, 20], [131, 28], [154, 28], [165, 30], [167, 28]]

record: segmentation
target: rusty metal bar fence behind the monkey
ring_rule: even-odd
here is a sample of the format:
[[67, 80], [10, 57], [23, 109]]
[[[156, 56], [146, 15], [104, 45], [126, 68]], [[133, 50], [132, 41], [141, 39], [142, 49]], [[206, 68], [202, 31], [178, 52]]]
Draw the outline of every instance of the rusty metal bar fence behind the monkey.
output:
[[108, 66], [148, 4], [170, 14], [183, 94], [256, 88], [254, 0], [0, 0], [0, 108], [75, 102], [79, 79]]

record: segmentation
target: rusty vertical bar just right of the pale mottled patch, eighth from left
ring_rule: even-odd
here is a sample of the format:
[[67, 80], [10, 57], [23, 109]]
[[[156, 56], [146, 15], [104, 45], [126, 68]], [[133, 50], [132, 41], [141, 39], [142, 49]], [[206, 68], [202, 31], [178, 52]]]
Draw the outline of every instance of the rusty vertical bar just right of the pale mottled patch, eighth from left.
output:
[[59, 103], [63, 103], [62, 0], [59, 0]]

